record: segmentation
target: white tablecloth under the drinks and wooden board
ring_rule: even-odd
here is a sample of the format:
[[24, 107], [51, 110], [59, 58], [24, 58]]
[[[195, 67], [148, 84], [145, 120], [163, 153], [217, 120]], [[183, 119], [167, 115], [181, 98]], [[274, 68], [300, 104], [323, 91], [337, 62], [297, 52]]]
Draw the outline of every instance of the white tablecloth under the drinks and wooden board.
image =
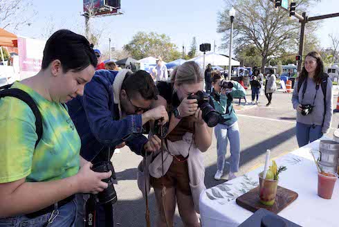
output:
[[[280, 158], [277, 165], [287, 170], [280, 174], [279, 185], [299, 194], [297, 199], [278, 215], [300, 226], [339, 226], [339, 183], [332, 199], [318, 197], [318, 174], [310, 151], [318, 158], [320, 140], [296, 149]], [[239, 226], [253, 215], [235, 202], [241, 194], [257, 187], [259, 167], [244, 176], [222, 183], [201, 193], [199, 207], [203, 227]]]

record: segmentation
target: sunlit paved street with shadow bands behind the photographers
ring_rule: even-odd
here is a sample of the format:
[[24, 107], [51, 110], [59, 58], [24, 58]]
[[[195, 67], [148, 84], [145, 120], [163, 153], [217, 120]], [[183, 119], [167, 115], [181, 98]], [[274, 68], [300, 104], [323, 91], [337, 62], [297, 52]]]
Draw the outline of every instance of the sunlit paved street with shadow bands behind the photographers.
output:
[[[335, 91], [334, 108], [338, 90]], [[297, 148], [295, 138], [295, 111], [291, 105], [291, 93], [277, 92], [273, 94], [273, 105], [266, 107], [266, 97], [259, 97], [259, 105], [235, 106], [239, 116], [239, 128], [241, 135], [241, 161], [240, 172], [244, 174], [264, 162], [266, 149], [271, 149], [273, 158], [282, 156]], [[250, 91], [247, 99], [250, 100]], [[237, 103], [238, 100], [235, 100]], [[333, 135], [334, 128], [338, 126], [339, 114], [333, 114], [332, 128], [329, 136]], [[217, 141], [213, 136], [213, 143], [204, 153], [205, 156], [205, 184], [208, 188], [223, 183], [228, 176], [228, 165], [226, 165], [223, 180], [215, 181], [213, 176], [216, 171]], [[227, 159], [229, 158], [229, 149]], [[145, 201], [143, 200], [136, 183], [136, 167], [141, 161], [140, 156], [129, 151], [128, 147], [120, 149], [114, 154], [112, 161], [116, 168], [118, 184], [118, 203], [115, 209], [116, 226], [145, 226]], [[150, 213], [152, 226], [155, 226], [156, 207], [154, 192], [150, 194]], [[183, 226], [176, 210], [175, 226]]]

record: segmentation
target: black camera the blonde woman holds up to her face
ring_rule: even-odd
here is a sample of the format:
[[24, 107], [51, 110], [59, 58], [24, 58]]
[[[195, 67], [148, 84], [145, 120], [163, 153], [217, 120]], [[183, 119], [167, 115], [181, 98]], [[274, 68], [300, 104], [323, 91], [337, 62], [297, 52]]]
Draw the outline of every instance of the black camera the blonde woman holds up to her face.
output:
[[198, 107], [203, 111], [203, 120], [205, 120], [208, 127], [214, 127], [218, 125], [220, 120], [220, 114], [210, 105], [210, 96], [208, 93], [198, 91], [194, 95], [190, 95], [187, 99], [198, 100]]

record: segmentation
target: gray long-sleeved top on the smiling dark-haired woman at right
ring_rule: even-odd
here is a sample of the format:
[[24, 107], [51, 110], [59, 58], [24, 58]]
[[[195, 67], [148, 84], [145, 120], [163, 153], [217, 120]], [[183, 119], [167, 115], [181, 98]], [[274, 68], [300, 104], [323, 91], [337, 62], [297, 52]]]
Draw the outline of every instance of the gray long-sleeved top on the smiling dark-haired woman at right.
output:
[[[314, 107], [311, 114], [306, 116], [302, 116], [299, 112], [297, 112], [297, 122], [306, 124], [306, 125], [322, 125], [322, 120], [324, 119], [324, 125], [322, 127], [322, 133], [325, 134], [328, 132], [329, 127], [331, 127], [331, 120], [333, 115], [333, 94], [332, 94], [332, 81], [331, 79], [327, 79], [327, 91], [326, 91], [326, 115], [324, 118], [324, 93], [322, 92], [322, 87], [319, 85], [319, 89], [317, 92], [316, 84], [311, 78], [307, 78], [307, 87], [304, 94], [304, 100], [302, 100], [302, 91], [304, 89], [305, 82], [302, 83], [300, 87], [299, 93], [297, 93], [297, 82], [294, 86], [292, 103], [293, 108], [297, 109], [297, 105], [299, 104], [310, 104]], [[315, 93], [317, 96], [315, 97]]]

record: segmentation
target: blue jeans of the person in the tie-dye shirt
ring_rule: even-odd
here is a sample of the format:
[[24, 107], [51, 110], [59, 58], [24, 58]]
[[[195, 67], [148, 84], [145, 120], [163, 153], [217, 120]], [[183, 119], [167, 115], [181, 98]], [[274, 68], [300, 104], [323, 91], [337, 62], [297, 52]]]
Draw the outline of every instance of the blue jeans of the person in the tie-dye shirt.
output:
[[[75, 226], [75, 218], [77, 214], [77, 206], [75, 204], [75, 199], [73, 201], [65, 204], [59, 208], [59, 215], [54, 219], [54, 221], [48, 225], [48, 227], [73, 227]], [[51, 217], [51, 212], [46, 213], [35, 218], [28, 218], [25, 215], [17, 217], [6, 217], [0, 218], [0, 227], [42, 227], [46, 225], [48, 219]]]

